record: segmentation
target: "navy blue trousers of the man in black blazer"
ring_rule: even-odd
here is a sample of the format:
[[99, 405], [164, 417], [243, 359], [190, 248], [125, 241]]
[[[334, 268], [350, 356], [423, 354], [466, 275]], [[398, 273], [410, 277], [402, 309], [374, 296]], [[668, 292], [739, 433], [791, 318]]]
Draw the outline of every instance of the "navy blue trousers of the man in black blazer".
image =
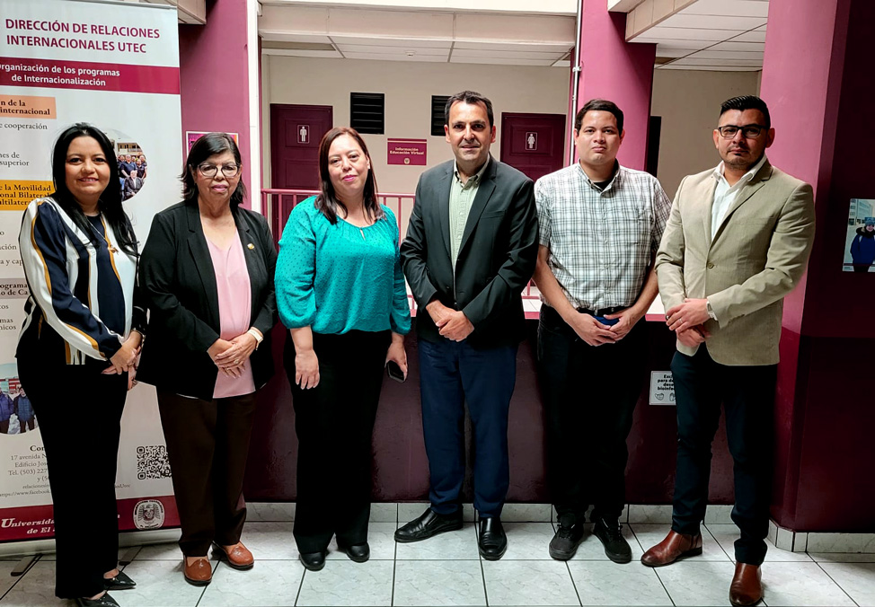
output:
[[508, 410], [517, 380], [517, 346], [477, 349], [464, 341], [420, 341], [422, 430], [429, 455], [431, 509], [460, 506], [464, 479], [464, 405], [474, 442], [474, 507], [499, 516], [508, 495]]

